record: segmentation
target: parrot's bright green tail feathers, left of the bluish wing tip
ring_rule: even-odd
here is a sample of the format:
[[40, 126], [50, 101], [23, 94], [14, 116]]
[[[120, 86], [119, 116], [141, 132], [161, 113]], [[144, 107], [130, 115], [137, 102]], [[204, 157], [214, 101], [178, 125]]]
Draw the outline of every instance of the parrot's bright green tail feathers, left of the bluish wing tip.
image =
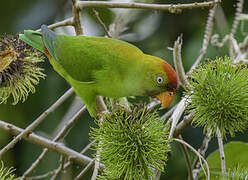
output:
[[19, 38], [22, 41], [44, 53], [44, 44], [41, 36], [40, 32], [33, 30], [24, 30], [24, 34], [19, 34]]

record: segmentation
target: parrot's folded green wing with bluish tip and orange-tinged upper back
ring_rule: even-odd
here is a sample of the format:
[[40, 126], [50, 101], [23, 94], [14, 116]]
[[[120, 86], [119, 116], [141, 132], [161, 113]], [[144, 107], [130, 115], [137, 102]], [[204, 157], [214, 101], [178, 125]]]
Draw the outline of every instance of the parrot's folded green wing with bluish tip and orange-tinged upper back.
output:
[[81, 82], [94, 82], [96, 73], [106, 69], [121, 71], [127, 56], [142, 53], [137, 47], [116, 39], [56, 35], [45, 25], [41, 30], [50, 55], [73, 79]]

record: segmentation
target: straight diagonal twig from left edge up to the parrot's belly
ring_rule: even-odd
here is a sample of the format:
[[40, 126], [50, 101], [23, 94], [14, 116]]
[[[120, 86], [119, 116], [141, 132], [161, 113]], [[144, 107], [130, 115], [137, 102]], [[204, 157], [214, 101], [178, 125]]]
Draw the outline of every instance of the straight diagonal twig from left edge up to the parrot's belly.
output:
[[6, 153], [9, 149], [13, 148], [17, 142], [22, 138], [28, 136], [49, 114], [51, 114], [57, 107], [59, 107], [67, 98], [73, 94], [73, 88], [69, 89], [63, 96], [61, 96], [52, 106], [50, 106], [44, 113], [42, 113], [35, 121], [33, 121], [24, 131], [18, 134], [8, 145], [6, 145], [0, 151], [0, 159], [3, 154]]

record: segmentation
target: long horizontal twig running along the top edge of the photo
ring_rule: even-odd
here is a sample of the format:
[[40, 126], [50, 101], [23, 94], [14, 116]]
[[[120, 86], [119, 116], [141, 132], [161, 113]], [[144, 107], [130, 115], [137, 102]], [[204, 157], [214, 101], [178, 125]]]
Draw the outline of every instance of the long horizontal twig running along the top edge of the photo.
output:
[[183, 9], [212, 7], [219, 3], [220, 0], [189, 3], [189, 4], [146, 4], [134, 2], [108, 2], [108, 1], [80, 1], [79, 8], [100, 7], [100, 8], [134, 8], [134, 9], [150, 9], [155, 11], [169, 11], [170, 13], [179, 13]]

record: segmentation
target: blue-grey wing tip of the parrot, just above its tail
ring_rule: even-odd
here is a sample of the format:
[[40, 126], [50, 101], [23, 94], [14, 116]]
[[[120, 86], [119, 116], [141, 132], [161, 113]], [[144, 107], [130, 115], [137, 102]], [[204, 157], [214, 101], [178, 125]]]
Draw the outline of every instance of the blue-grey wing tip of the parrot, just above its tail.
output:
[[55, 59], [57, 59], [54, 47], [54, 41], [57, 35], [53, 31], [51, 31], [46, 25], [41, 26], [41, 33], [45, 48]]

